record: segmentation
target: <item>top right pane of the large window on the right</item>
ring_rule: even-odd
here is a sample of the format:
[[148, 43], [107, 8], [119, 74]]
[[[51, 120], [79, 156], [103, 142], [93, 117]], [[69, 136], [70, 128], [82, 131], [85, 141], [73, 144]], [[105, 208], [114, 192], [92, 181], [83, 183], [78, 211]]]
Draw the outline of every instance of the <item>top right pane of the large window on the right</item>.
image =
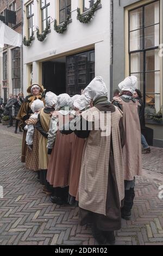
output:
[[145, 6], [145, 26], [153, 25], [160, 22], [160, 4], [148, 4]]

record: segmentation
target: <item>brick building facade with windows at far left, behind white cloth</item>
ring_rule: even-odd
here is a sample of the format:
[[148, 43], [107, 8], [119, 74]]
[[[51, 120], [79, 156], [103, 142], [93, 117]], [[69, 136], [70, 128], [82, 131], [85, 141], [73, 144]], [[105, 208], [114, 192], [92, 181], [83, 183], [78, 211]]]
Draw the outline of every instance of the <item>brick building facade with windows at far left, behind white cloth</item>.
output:
[[[0, 15], [5, 16], [5, 9], [16, 11], [16, 24], [8, 26], [22, 34], [22, 1], [1, 0]], [[21, 48], [4, 45], [0, 57], [0, 95], [7, 101], [9, 94], [21, 91]]]

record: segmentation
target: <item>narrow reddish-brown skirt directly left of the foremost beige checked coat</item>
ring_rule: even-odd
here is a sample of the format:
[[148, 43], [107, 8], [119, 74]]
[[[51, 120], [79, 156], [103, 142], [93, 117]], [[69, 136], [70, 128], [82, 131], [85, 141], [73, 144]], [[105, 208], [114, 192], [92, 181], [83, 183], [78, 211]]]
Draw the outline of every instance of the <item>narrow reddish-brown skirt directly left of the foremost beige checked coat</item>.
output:
[[74, 138], [72, 146], [72, 160], [70, 168], [70, 179], [69, 179], [69, 194], [79, 200], [79, 179], [80, 179], [80, 169], [82, 164], [83, 148], [85, 144], [85, 139]]

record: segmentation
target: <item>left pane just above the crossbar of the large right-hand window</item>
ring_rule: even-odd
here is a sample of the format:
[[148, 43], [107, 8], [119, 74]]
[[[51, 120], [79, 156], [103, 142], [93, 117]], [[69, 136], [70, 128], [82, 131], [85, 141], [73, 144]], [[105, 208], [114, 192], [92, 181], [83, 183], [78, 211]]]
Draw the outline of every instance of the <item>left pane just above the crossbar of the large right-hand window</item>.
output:
[[142, 29], [130, 32], [130, 51], [142, 49]]

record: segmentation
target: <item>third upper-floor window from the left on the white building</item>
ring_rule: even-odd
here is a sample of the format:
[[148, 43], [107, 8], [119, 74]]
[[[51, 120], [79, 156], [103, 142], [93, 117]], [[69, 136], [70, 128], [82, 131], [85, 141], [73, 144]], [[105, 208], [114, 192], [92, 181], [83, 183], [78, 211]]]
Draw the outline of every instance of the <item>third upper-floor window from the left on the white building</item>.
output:
[[59, 0], [59, 23], [64, 22], [68, 15], [71, 16], [71, 0]]

